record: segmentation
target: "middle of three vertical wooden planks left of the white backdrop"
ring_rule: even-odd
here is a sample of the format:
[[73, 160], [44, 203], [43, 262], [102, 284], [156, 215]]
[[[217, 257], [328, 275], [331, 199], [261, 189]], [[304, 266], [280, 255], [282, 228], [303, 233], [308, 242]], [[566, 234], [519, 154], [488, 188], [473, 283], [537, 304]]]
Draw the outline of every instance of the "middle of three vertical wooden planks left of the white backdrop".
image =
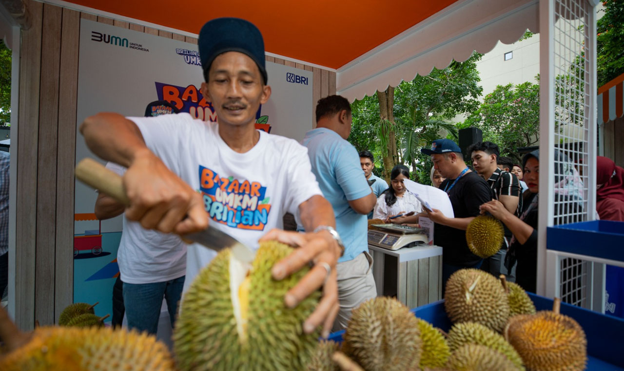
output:
[[35, 319], [54, 324], [54, 259], [56, 243], [56, 156], [59, 120], [62, 8], [44, 4], [37, 152], [37, 237]]

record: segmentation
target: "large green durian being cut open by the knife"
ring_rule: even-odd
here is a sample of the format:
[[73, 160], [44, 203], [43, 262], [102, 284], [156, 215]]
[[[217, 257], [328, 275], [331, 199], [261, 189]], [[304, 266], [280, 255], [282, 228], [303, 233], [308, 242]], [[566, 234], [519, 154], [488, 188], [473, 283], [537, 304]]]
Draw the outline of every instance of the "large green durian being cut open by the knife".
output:
[[281, 281], [271, 276], [273, 264], [292, 251], [275, 241], [261, 243], [248, 266], [226, 249], [200, 271], [173, 332], [180, 371], [305, 369], [319, 334], [304, 334], [303, 322], [320, 292], [288, 309], [286, 292], [309, 268]]

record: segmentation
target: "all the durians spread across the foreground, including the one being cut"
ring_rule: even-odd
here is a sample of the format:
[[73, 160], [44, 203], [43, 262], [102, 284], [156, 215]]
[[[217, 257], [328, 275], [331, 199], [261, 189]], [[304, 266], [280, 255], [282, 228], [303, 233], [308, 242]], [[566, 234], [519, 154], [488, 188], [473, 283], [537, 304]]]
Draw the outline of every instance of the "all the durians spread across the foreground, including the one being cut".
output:
[[[378, 297], [354, 309], [342, 344], [305, 334], [320, 292], [295, 309], [284, 296], [309, 270], [282, 281], [271, 267], [292, 249], [263, 243], [251, 265], [222, 251], [183, 297], [173, 356], [154, 336], [100, 327], [92, 306], [68, 308], [59, 322], [24, 334], [0, 310], [0, 370], [24, 371], [419, 371], [583, 370], [585, 334], [555, 311], [535, 312], [520, 286], [477, 269], [447, 281], [446, 334], [401, 302]], [[555, 303], [558, 302], [555, 301]], [[87, 320], [77, 320], [89, 315]], [[97, 320], [96, 320], [97, 319]]]

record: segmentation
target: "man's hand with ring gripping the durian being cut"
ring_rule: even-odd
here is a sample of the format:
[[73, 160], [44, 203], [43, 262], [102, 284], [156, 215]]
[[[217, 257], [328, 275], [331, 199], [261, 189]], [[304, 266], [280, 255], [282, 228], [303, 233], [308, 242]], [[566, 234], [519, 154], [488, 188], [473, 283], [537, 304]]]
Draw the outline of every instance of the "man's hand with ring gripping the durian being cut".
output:
[[[295, 287], [286, 293], [284, 302], [287, 307], [296, 307], [305, 297], [323, 286], [323, 298], [314, 312], [306, 319], [303, 330], [310, 334], [319, 325], [323, 325], [321, 335], [329, 336], [329, 331], [338, 314], [338, 281], [336, 263], [342, 251], [336, 240], [328, 231], [318, 233], [296, 233], [271, 229], [260, 241], [276, 240], [290, 246], [298, 247], [290, 256], [282, 259], [271, 270], [273, 278], [284, 277], [300, 270], [308, 263], [314, 263], [313, 268]], [[329, 272], [326, 270], [326, 263]], [[329, 273], [329, 274], [328, 274]]]

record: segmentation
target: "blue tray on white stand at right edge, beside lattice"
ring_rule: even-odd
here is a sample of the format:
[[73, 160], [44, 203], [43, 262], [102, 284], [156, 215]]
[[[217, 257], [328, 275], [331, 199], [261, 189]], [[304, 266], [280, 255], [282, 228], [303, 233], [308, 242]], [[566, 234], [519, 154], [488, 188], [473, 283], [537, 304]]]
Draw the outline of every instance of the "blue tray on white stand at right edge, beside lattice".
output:
[[624, 222], [583, 221], [548, 227], [549, 250], [624, 261]]

